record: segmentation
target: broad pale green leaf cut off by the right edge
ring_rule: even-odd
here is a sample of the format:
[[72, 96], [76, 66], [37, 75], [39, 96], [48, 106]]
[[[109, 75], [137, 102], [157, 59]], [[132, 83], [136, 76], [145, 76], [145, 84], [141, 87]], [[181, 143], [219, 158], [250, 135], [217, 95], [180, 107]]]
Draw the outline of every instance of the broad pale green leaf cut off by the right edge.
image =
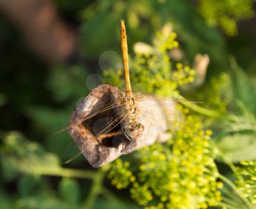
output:
[[229, 161], [256, 159], [255, 115], [241, 101], [237, 102], [237, 107], [237, 115], [228, 115], [224, 122], [217, 147]]

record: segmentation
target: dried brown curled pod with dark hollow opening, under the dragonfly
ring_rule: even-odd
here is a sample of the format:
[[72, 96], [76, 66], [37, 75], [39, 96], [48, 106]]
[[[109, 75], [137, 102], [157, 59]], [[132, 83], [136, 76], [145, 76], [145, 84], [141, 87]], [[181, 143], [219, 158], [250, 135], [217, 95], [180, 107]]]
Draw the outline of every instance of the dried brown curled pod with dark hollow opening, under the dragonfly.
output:
[[78, 103], [70, 117], [69, 134], [93, 167], [101, 167], [118, 156], [171, 137], [166, 134], [168, 123], [164, 118], [166, 111], [170, 111], [170, 115], [174, 113], [174, 102], [160, 104], [157, 99], [142, 97], [136, 102], [142, 133], [127, 137], [128, 113], [123, 99], [124, 92], [115, 86], [99, 85]]

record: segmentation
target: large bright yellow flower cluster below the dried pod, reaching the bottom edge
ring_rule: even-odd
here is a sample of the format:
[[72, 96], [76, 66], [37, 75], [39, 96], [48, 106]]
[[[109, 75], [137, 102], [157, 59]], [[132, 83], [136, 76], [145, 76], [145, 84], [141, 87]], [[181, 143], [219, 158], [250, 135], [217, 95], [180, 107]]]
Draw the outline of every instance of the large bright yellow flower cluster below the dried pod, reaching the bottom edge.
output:
[[[187, 128], [185, 128], [187, 127]], [[189, 128], [188, 128], [189, 127]], [[140, 151], [138, 182], [132, 198], [146, 208], [208, 208], [221, 201], [221, 182], [211, 151], [211, 131], [203, 131], [200, 118], [188, 116], [172, 145], [156, 144]], [[135, 191], [143, 191], [148, 198]], [[149, 195], [150, 194], [150, 195]], [[160, 200], [151, 204], [151, 195]], [[150, 197], [150, 198], [149, 198]]]

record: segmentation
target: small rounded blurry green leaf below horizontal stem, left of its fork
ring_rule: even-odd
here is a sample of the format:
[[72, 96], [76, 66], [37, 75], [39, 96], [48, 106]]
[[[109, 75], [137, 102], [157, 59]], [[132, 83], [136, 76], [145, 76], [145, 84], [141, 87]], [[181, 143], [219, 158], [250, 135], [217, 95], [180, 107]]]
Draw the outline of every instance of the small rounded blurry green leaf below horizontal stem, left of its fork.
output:
[[65, 202], [78, 203], [80, 191], [78, 182], [70, 178], [62, 178], [59, 183], [59, 194]]

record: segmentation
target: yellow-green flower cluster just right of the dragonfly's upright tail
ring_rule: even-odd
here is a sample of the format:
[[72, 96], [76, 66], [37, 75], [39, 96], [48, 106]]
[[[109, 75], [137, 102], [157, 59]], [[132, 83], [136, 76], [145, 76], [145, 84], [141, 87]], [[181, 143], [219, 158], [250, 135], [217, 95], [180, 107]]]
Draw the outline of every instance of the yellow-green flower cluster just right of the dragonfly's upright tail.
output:
[[[167, 30], [168, 31], [168, 30]], [[154, 53], [145, 55], [137, 53], [131, 63], [131, 80], [133, 88], [141, 93], [158, 96], [176, 96], [178, 86], [192, 83], [195, 71], [189, 66], [176, 64], [172, 67], [169, 51], [178, 47], [176, 33], [158, 32], [153, 42]]]

